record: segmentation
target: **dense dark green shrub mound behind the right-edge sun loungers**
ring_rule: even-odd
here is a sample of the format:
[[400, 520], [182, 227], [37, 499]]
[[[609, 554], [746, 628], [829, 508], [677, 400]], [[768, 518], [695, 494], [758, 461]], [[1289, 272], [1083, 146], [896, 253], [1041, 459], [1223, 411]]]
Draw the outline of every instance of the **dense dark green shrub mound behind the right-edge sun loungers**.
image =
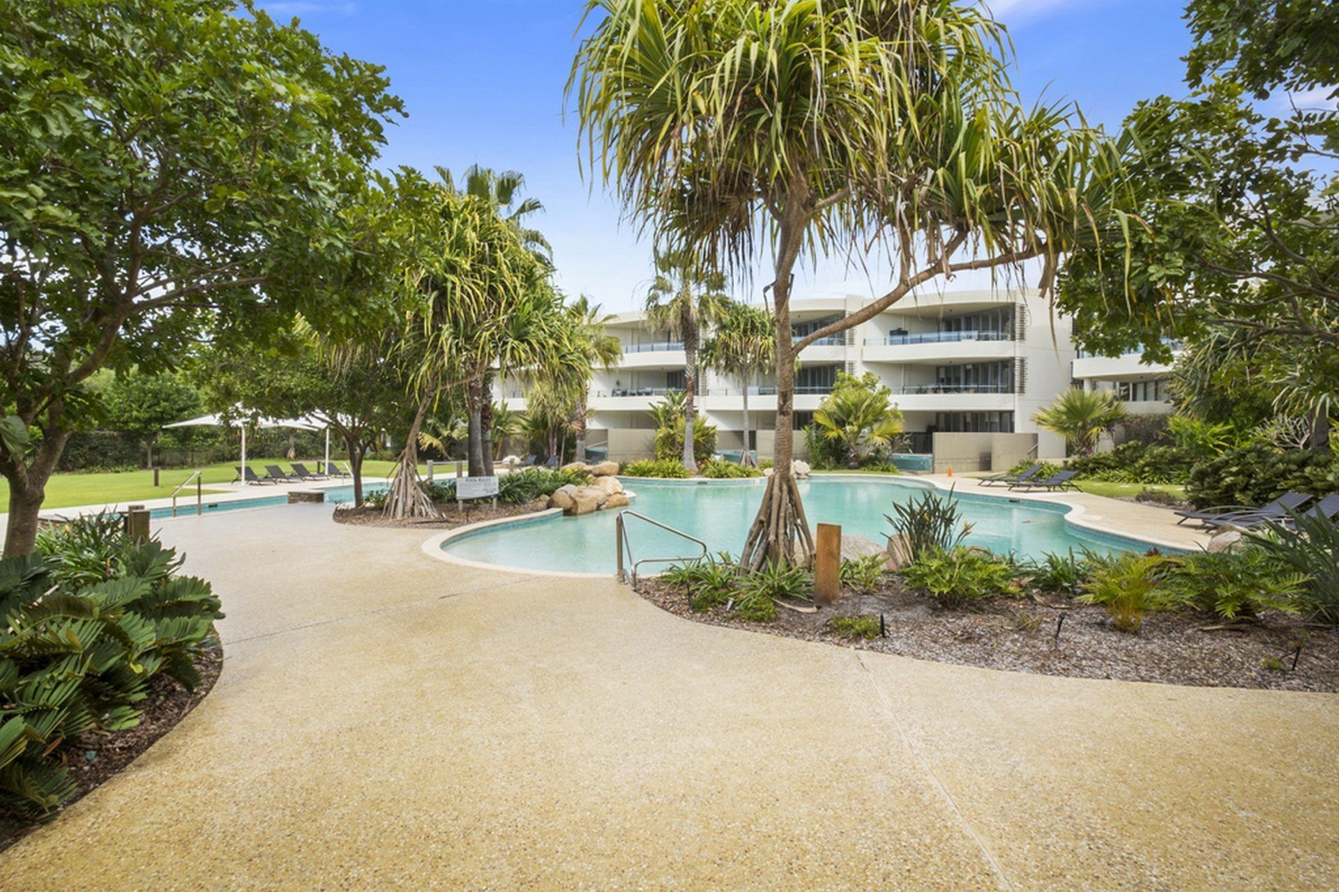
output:
[[1263, 444], [1228, 449], [1194, 465], [1185, 487], [1196, 506], [1261, 506], [1285, 492], [1339, 492], [1339, 460], [1307, 449], [1280, 452]]

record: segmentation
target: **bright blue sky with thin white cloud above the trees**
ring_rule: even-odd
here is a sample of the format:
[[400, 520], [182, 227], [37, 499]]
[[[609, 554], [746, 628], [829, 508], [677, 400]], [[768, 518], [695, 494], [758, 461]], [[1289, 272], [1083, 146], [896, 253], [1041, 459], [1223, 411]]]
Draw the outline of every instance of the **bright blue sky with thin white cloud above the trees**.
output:
[[[620, 222], [600, 183], [582, 178], [577, 122], [562, 114], [577, 0], [274, 0], [336, 52], [387, 67], [410, 118], [390, 132], [387, 166], [518, 170], [545, 205], [537, 221], [553, 243], [561, 288], [607, 310], [645, 298], [651, 246]], [[1090, 120], [1115, 126], [1139, 99], [1181, 95], [1190, 37], [1177, 0], [996, 0], [1018, 51], [1015, 86], [1077, 102]], [[872, 294], [865, 270], [821, 263], [803, 270], [797, 297]], [[757, 300], [762, 278], [739, 286]], [[953, 282], [969, 288], [980, 281]]]

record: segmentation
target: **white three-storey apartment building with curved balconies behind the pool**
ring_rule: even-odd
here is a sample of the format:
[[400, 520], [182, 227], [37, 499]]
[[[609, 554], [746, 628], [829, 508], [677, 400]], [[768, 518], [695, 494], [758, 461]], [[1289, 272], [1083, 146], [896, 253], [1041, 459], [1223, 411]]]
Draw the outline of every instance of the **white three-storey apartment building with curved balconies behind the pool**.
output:
[[[795, 300], [795, 337], [864, 305], [861, 297]], [[588, 443], [605, 445], [609, 457], [625, 461], [652, 452], [648, 408], [667, 392], [683, 389], [686, 357], [683, 345], [648, 326], [643, 312], [616, 316], [607, 328], [623, 344], [623, 354], [617, 366], [596, 372]], [[1060, 457], [1063, 440], [1032, 421], [1036, 409], [1077, 381], [1118, 386], [1134, 374], [1127, 360], [1138, 362], [1137, 356], [1119, 357], [1107, 368], [1079, 360], [1071, 333], [1071, 321], [1054, 316], [1032, 289], [904, 298], [868, 322], [805, 348], [795, 373], [795, 429], [809, 423], [838, 372], [873, 372], [893, 392], [912, 451], [932, 453], [936, 469], [991, 469], [1027, 456]], [[746, 384], [708, 369], [700, 369], [698, 381], [696, 404], [719, 431], [718, 448], [742, 448]], [[747, 388], [753, 445], [769, 456], [775, 378], [765, 374]], [[503, 395], [510, 407], [525, 408], [516, 385]], [[797, 436], [797, 447], [801, 441]]]

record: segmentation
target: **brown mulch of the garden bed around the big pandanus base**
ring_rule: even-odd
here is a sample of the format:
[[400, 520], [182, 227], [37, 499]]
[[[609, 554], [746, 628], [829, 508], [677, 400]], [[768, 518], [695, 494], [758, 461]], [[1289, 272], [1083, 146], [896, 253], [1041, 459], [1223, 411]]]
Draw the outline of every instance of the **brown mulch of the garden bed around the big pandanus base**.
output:
[[[815, 614], [778, 608], [770, 623], [747, 622], [724, 607], [694, 612], [682, 586], [656, 579], [643, 580], [637, 591], [696, 622], [963, 666], [1204, 687], [1339, 691], [1339, 633], [1277, 611], [1216, 631], [1201, 630], [1228, 623], [1190, 612], [1157, 612], [1131, 635], [1115, 631], [1103, 608], [1060, 595], [1000, 596], [947, 608], [904, 591], [897, 576], [885, 576], [872, 594], [844, 591], [836, 607], [819, 607]], [[874, 622], [882, 615], [886, 637], [838, 635], [829, 625], [838, 615]]]

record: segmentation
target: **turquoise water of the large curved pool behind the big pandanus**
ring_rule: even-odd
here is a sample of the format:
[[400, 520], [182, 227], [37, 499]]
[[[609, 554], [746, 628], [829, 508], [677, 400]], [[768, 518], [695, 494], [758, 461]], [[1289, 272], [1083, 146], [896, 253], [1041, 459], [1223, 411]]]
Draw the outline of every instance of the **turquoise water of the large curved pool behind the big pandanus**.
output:
[[[711, 484], [628, 480], [637, 493], [632, 511], [690, 532], [711, 551], [738, 554], [762, 500], [761, 480]], [[799, 484], [810, 526], [838, 523], [844, 534], [884, 542], [893, 503], [916, 497], [928, 484], [904, 480], [814, 477]], [[1110, 552], [1144, 548], [1144, 543], [1081, 530], [1065, 522], [1069, 508], [988, 496], [959, 496], [963, 516], [972, 523], [969, 544], [1000, 554], [1040, 558], [1047, 551], [1090, 548]], [[529, 570], [613, 572], [615, 511], [584, 518], [538, 518], [481, 530], [442, 547], [457, 558]], [[672, 534], [636, 519], [628, 522], [635, 559], [696, 556], [700, 551]], [[652, 570], [653, 571], [653, 570]]]

